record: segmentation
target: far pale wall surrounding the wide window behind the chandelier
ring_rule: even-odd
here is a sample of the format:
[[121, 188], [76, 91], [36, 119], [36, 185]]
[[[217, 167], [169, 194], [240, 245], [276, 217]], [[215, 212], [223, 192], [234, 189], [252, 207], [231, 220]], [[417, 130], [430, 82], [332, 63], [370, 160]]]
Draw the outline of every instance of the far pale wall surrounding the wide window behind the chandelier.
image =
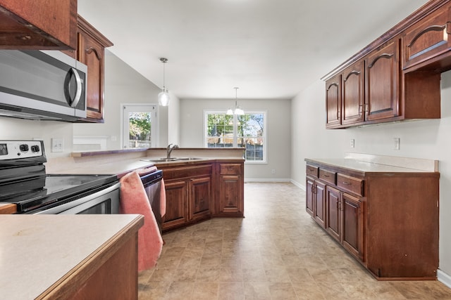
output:
[[[291, 156], [291, 101], [283, 99], [248, 100], [240, 99], [238, 104], [246, 111], [266, 111], [266, 164], [246, 164], [247, 180], [290, 179]], [[180, 100], [180, 146], [204, 147], [204, 110], [222, 110], [235, 105], [235, 99], [181, 99]], [[271, 174], [275, 169], [276, 174]]]

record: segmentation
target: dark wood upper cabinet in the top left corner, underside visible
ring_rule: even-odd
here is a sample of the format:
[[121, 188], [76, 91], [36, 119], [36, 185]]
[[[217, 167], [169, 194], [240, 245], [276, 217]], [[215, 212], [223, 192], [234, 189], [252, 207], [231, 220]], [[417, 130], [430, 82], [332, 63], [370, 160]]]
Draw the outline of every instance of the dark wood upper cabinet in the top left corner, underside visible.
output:
[[77, 47], [77, 0], [0, 0], [0, 48]]

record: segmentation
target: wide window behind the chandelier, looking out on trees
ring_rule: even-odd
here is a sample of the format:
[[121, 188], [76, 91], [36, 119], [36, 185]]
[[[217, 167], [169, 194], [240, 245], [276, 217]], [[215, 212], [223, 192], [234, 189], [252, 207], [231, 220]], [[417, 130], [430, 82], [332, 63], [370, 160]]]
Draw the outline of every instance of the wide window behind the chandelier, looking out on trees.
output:
[[246, 148], [246, 162], [266, 162], [266, 112], [205, 112], [207, 148]]

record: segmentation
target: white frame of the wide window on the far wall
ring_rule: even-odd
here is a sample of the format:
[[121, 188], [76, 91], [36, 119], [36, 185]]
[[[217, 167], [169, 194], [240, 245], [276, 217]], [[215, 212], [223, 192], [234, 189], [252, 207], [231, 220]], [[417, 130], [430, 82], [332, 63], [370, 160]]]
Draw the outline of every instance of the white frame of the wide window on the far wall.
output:
[[[208, 147], [208, 116], [209, 115], [226, 115], [226, 110], [204, 110], [204, 147]], [[268, 150], [267, 150], [267, 142], [266, 139], [268, 137], [267, 131], [268, 127], [267, 124], [267, 118], [268, 118], [268, 111], [267, 110], [250, 110], [246, 111], [245, 115], [263, 115], [264, 122], [263, 122], [263, 159], [262, 160], [247, 160], [245, 159], [245, 164], [267, 164], [268, 163]], [[233, 115], [233, 148], [238, 148], [237, 146], [237, 138], [238, 138], [238, 125], [237, 125], [237, 115]], [[246, 138], [245, 136], [242, 138]], [[226, 149], [226, 148], [225, 148]], [[246, 148], [243, 148], [246, 150]]]

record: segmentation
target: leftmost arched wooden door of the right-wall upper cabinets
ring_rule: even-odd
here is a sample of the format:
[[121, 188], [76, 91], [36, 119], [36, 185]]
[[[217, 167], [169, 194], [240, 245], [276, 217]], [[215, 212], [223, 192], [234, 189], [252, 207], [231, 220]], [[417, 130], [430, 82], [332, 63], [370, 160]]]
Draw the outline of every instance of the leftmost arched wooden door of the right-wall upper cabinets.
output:
[[340, 126], [341, 76], [326, 81], [326, 128]]

